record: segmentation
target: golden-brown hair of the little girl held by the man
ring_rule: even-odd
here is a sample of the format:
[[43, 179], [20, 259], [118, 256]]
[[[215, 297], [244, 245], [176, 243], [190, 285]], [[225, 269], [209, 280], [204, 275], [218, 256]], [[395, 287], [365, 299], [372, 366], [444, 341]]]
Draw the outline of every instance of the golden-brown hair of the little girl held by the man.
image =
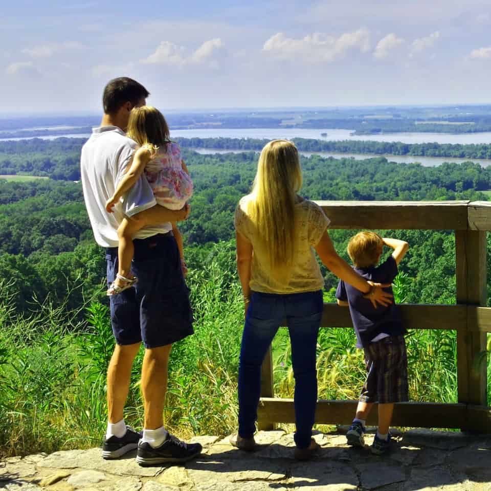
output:
[[131, 109], [126, 134], [140, 146], [157, 151], [170, 142], [169, 126], [164, 115], [155, 107], [142, 106]]

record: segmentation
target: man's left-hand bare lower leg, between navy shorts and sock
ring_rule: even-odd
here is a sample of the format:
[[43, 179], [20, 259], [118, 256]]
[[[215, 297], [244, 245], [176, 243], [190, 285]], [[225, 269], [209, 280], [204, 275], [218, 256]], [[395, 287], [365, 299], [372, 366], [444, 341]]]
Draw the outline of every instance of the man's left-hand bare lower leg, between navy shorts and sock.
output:
[[107, 367], [107, 413], [110, 423], [123, 419], [123, 409], [128, 397], [131, 366], [138, 353], [140, 343], [126, 346], [116, 345]]

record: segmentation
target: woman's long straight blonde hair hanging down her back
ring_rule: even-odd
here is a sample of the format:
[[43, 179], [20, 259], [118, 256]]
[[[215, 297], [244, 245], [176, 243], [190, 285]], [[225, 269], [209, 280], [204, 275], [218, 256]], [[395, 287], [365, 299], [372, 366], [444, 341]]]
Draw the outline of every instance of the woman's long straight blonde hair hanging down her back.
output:
[[263, 241], [277, 281], [289, 278], [295, 254], [295, 202], [302, 186], [298, 151], [288, 140], [273, 140], [261, 151], [248, 214]]

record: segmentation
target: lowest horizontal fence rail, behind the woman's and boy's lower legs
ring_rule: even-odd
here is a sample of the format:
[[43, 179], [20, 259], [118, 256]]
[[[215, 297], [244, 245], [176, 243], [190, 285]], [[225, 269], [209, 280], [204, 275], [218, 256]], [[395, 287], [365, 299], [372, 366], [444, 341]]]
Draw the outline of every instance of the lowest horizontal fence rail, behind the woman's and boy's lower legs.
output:
[[[323, 425], [349, 425], [356, 413], [356, 400], [319, 400], [316, 423]], [[392, 424], [399, 427], [461, 428], [467, 418], [465, 404], [398, 403], [394, 408]], [[486, 420], [481, 410], [481, 417]], [[261, 398], [258, 418], [262, 421], [295, 422], [293, 399]], [[377, 410], [372, 409], [368, 425], [376, 425]], [[489, 424], [489, 423], [488, 423]]]

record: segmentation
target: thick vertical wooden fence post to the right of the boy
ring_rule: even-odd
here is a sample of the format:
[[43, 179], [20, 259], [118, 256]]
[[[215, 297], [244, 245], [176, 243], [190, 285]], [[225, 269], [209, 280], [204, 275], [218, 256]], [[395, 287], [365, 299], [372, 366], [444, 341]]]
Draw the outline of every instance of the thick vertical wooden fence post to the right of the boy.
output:
[[[457, 303], [486, 305], [486, 232], [455, 232]], [[478, 364], [486, 350], [486, 333], [478, 332], [466, 316], [457, 330], [457, 384], [459, 403], [487, 406], [486, 363]], [[462, 430], [479, 431], [476, 421], [467, 420]]]

